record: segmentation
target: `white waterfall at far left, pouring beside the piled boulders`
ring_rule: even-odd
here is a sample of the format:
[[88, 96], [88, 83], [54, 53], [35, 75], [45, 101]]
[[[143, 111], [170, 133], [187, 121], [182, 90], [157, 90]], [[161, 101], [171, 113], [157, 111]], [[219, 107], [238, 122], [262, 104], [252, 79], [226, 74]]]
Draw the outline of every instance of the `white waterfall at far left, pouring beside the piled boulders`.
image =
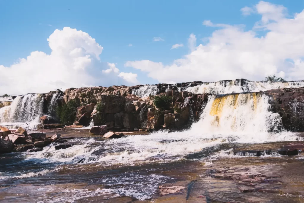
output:
[[10, 128], [34, 128], [39, 123], [43, 99], [40, 94], [17, 96], [10, 106], [0, 108], [0, 124]]

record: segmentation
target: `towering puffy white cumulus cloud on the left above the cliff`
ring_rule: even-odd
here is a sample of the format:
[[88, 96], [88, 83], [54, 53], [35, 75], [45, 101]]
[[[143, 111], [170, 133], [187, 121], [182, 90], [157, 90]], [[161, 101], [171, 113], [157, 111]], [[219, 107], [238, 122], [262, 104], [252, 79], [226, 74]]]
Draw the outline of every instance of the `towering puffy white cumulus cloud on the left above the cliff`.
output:
[[46, 93], [57, 88], [129, 84], [125, 78], [130, 77], [119, 76], [115, 64], [100, 61], [103, 47], [88, 33], [64, 27], [56, 29], [47, 41], [50, 54], [33, 51], [9, 67], [0, 65], [0, 94]]

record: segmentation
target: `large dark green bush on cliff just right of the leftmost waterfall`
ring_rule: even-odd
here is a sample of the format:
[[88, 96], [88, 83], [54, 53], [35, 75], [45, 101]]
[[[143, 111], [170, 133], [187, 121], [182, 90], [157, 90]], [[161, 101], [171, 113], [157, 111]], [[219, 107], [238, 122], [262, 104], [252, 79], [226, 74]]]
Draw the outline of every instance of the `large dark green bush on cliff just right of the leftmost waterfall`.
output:
[[71, 99], [67, 103], [58, 106], [56, 109], [56, 116], [64, 125], [71, 125], [76, 119], [76, 111], [79, 107], [75, 99]]

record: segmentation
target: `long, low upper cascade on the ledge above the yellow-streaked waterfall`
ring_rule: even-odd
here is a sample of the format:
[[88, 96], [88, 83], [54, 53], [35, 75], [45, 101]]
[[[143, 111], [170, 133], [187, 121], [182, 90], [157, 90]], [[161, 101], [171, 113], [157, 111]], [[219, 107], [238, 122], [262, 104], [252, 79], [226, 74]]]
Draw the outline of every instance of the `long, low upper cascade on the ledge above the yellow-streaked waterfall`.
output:
[[224, 95], [238, 92], [257, 92], [277, 88], [299, 88], [304, 86], [304, 81], [287, 82], [263, 82], [237, 79], [232, 81], [204, 82], [194, 87], [187, 87], [184, 91], [195, 94], [215, 94]]

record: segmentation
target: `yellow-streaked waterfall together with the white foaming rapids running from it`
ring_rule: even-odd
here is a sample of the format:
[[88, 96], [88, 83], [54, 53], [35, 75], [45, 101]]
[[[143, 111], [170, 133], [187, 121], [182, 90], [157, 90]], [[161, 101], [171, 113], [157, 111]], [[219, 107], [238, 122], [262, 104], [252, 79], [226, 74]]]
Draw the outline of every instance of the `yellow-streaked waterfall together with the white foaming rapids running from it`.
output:
[[63, 150], [55, 150], [55, 146], [50, 145], [41, 152], [30, 154], [28, 158], [59, 163], [82, 160], [84, 163], [102, 165], [134, 165], [181, 160], [185, 155], [228, 140], [238, 143], [296, 140], [295, 133], [269, 132], [280, 128], [281, 118], [269, 112], [268, 107], [268, 99], [261, 94], [240, 94], [237, 98], [236, 95], [218, 99], [211, 97], [200, 121], [187, 131], [158, 131], [108, 141], [80, 140], [79, 145]]

